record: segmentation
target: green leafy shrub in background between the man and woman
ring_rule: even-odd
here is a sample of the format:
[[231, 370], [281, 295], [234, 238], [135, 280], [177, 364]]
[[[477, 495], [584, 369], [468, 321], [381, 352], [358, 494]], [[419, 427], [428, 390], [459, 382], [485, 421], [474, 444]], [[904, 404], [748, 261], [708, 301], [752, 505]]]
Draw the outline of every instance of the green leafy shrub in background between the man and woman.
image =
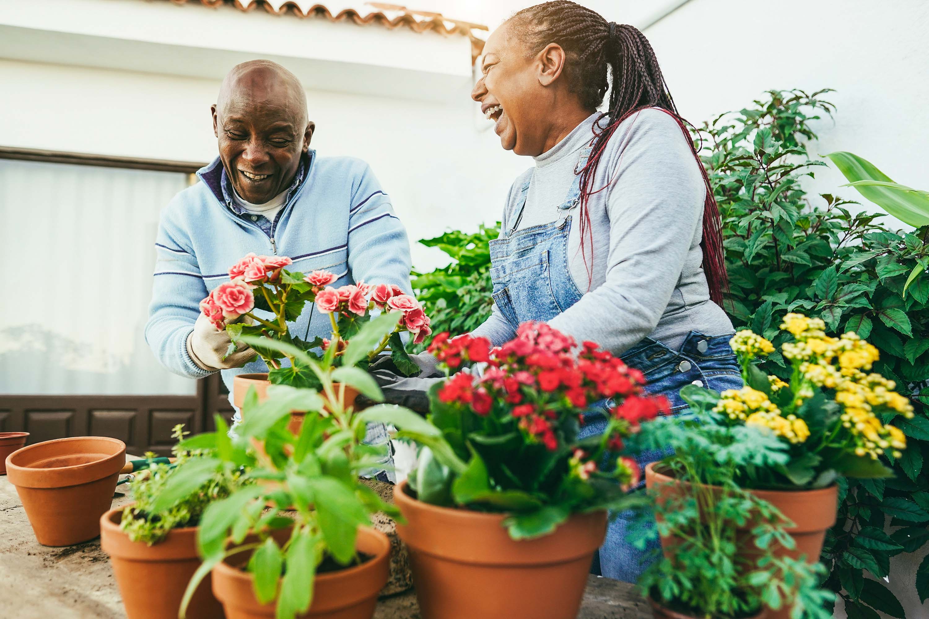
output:
[[[468, 333], [491, 316], [491, 250], [489, 243], [500, 236], [500, 222], [478, 227], [474, 233], [446, 232], [419, 241], [436, 247], [451, 258], [448, 266], [420, 273], [412, 280], [416, 298], [423, 303], [436, 333]], [[421, 352], [425, 344], [410, 344]]]

